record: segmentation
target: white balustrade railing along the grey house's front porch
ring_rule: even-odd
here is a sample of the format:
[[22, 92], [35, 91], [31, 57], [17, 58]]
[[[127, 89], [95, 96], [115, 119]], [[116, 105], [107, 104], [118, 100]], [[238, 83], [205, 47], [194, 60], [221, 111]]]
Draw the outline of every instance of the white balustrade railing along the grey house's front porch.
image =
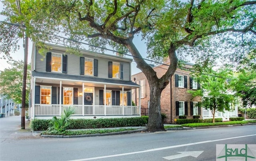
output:
[[140, 115], [138, 106], [104, 105], [46, 105], [35, 104], [35, 115], [61, 115], [64, 109], [73, 107], [74, 115]]

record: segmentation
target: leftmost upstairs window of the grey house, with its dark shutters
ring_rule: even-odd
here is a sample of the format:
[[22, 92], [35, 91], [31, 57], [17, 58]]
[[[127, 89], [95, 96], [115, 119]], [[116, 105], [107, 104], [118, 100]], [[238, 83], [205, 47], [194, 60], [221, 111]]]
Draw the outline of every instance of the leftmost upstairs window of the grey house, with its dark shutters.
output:
[[67, 62], [67, 55], [48, 52], [46, 54], [46, 72], [67, 73]]

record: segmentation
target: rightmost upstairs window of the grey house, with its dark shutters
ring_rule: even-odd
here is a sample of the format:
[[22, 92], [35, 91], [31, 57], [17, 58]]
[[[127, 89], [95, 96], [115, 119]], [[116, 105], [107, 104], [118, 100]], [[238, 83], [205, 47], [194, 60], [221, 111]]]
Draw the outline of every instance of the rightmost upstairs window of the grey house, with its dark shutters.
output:
[[118, 62], [108, 62], [108, 78], [124, 78], [124, 66]]

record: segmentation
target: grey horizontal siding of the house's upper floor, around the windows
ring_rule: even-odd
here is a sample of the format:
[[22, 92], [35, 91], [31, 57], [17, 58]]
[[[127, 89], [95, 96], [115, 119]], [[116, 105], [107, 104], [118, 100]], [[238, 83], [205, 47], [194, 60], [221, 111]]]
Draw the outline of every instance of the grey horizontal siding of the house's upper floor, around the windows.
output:
[[[86, 58], [93, 58], [98, 60], [98, 76], [97, 78], [108, 78], [108, 62], [118, 62], [123, 64], [123, 70], [124, 70], [124, 79], [130, 81], [130, 62], [115, 60], [115, 59], [109, 59], [109, 58], [102, 58], [100, 56], [97, 56], [96, 54], [94, 56], [82, 54], [80, 56], [74, 55], [74, 54], [68, 54], [65, 53], [62, 50], [50, 50], [50, 52], [56, 52], [60, 54], [66, 54], [68, 56], [68, 62], [67, 62], [67, 74], [68, 75], [80, 75], [80, 57], [86, 57]], [[36, 69], [37, 72], [46, 72], [46, 58], [45, 56], [42, 56], [38, 53], [38, 50], [36, 51]], [[90, 77], [90, 76], [89, 76]]]

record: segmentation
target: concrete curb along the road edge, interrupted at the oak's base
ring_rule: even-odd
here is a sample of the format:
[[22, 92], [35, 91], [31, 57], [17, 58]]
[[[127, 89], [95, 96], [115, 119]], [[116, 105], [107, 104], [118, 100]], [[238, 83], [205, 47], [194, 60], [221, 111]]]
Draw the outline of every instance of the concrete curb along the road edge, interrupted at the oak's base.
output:
[[[233, 126], [242, 126], [242, 125], [256, 125], [256, 123], [246, 123], [246, 124], [235, 124], [235, 125], [216, 125], [216, 126], [204, 126], [204, 127], [172, 127], [166, 128], [167, 131], [178, 131], [178, 130], [193, 130], [193, 129], [210, 129], [218, 127], [233, 127]], [[84, 134], [84, 135], [41, 135], [41, 137], [50, 137], [50, 138], [73, 138], [73, 137], [94, 137], [94, 136], [109, 136], [109, 135], [122, 135], [128, 133], [138, 133], [148, 131], [146, 128], [131, 130], [131, 131], [119, 131], [114, 133], [96, 133], [96, 134]], [[37, 132], [40, 133], [40, 132]]]

